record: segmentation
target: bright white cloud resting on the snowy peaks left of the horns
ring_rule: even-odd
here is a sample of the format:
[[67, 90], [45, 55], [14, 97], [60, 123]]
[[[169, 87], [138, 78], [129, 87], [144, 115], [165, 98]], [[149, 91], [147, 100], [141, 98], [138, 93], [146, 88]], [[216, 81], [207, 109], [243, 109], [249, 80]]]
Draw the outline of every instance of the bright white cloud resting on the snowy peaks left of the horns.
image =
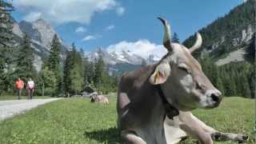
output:
[[162, 56], [167, 53], [164, 46], [150, 42], [147, 39], [141, 39], [137, 42], [118, 42], [114, 45], [108, 46], [106, 50], [108, 53], [118, 51], [122, 52], [123, 50], [130, 51], [133, 54], [139, 54], [142, 58], [148, 58], [150, 54], [158, 56], [158, 58], [162, 58]]

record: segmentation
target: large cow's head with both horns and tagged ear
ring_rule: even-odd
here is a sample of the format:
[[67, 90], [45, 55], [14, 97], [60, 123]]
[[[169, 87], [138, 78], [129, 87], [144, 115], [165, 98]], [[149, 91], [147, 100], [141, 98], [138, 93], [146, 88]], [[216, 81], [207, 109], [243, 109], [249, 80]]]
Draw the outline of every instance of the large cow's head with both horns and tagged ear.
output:
[[170, 26], [165, 19], [159, 18], [164, 25], [163, 45], [168, 53], [156, 66], [150, 76], [150, 83], [160, 84], [168, 102], [178, 110], [195, 108], [214, 108], [221, 102], [221, 92], [217, 90], [202, 71], [192, 52], [202, 45], [198, 33], [197, 40], [190, 49], [170, 42]]

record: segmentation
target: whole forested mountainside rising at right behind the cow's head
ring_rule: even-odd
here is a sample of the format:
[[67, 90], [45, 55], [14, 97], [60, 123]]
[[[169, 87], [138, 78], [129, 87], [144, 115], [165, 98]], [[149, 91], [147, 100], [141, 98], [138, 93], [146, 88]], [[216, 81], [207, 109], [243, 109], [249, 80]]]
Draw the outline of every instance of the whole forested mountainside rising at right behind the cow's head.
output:
[[[255, 1], [248, 0], [225, 17], [199, 30], [203, 40], [202, 49], [196, 51], [194, 56], [199, 59], [214, 86], [226, 96], [254, 97], [254, 6]], [[194, 38], [194, 35], [191, 36], [183, 44], [190, 47]], [[235, 50], [242, 51], [242, 61], [238, 62], [234, 58], [234, 61], [216, 66], [218, 60], [226, 58]], [[238, 56], [241, 55], [234, 55]]]

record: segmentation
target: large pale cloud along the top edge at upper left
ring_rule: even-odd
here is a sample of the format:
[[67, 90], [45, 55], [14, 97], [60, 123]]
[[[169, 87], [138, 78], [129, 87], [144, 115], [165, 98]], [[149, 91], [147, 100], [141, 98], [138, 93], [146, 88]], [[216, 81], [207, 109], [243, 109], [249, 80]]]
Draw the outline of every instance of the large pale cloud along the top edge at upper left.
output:
[[[54, 24], [65, 22], [90, 23], [94, 14], [106, 10], [117, 10], [122, 14], [123, 8], [117, 0], [14, 0], [14, 7], [25, 14], [26, 20], [34, 21], [40, 16]], [[120, 10], [119, 10], [120, 9]]]

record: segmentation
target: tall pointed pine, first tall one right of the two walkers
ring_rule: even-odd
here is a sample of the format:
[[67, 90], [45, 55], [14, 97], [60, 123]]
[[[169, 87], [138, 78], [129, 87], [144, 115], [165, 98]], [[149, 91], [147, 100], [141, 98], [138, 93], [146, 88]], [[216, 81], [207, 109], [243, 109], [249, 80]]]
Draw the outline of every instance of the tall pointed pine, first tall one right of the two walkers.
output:
[[50, 48], [50, 56], [46, 62], [46, 66], [49, 70], [51, 70], [55, 78], [57, 79], [57, 88], [54, 92], [54, 94], [59, 94], [62, 91], [62, 70], [61, 70], [61, 56], [60, 56], [60, 50], [61, 50], [61, 43], [58, 40], [57, 34], [54, 34], [54, 38], [51, 43]]

